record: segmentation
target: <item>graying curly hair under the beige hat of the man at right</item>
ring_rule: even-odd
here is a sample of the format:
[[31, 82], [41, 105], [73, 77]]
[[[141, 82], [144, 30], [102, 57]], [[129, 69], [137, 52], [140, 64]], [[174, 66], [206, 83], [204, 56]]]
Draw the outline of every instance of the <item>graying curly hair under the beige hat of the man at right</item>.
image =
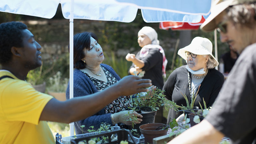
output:
[[248, 28], [254, 28], [255, 24], [252, 21], [252, 17], [256, 20], [256, 3], [247, 2], [244, 4], [237, 4], [230, 6], [226, 9], [227, 18], [234, 24], [240, 24], [247, 26]]

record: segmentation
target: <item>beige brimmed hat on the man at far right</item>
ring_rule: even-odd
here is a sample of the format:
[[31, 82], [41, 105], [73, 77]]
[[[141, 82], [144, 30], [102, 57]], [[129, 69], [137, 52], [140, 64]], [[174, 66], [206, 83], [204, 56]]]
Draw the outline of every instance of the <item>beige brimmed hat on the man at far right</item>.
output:
[[226, 8], [236, 4], [243, 4], [249, 2], [255, 2], [256, 0], [216, 0], [213, 3], [211, 8], [211, 14], [208, 18], [204, 21], [204, 23], [200, 26], [200, 29], [203, 31], [209, 32], [213, 31], [217, 28], [217, 24], [215, 22], [215, 18], [223, 12]]

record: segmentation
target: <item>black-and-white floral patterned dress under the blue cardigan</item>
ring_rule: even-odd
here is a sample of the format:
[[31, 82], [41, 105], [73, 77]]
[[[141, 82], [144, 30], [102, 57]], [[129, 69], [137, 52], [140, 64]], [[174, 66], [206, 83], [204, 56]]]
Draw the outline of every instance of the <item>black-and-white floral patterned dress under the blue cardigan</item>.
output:
[[[101, 67], [101, 66], [100, 66]], [[108, 82], [104, 82], [104, 81], [101, 81], [101, 80], [98, 80], [92, 76], [89, 76], [87, 73], [83, 72], [86, 76], [88, 76], [91, 81], [93, 82], [93, 84], [96, 86], [97, 90], [100, 92], [106, 88], [108, 88], [109, 86], [111, 86], [112, 84], [116, 84], [117, 83], [117, 80], [116, 78], [104, 67], [101, 67], [103, 69], [103, 71], [105, 72], [106, 76], [107, 76], [107, 80]], [[123, 111], [125, 110], [126, 108], [128, 107], [131, 107], [130, 103], [127, 102], [128, 99], [127, 97], [125, 96], [121, 96], [121, 97], [118, 97], [116, 100], [112, 101], [110, 104], [108, 104], [106, 107], [105, 107], [105, 113], [108, 114], [108, 113], [118, 113], [120, 111]], [[121, 128], [125, 128], [126, 125], [123, 124], [123, 123], [119, 123], [118, 124]]]

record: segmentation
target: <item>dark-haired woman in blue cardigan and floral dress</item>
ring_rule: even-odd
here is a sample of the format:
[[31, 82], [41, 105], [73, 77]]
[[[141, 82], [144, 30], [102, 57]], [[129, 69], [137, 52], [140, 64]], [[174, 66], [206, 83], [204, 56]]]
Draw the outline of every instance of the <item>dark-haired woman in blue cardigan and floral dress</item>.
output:
[[[104, 54], [97, 41], [97, 36], [91, 32], [78, 33], [74, 36], [74, 97], [102, 91], [120, 80], [113, 68], [102, 64]], [[69, 84], [66, 97], [69, 99]], [[76, 134], [87, 133], [90, 126], [98, 129], [101, 123], [118, 124], [121, 128], [131, 125], [132, 122], [127, 121], [127, 114], [137, 116], [138, 121], [134, 123], [139, 124], [142, 116], [137, 112], [132, 113], [132, 110], [125, 110], [130, 106], [125, 96], [117, 98], [95, 115], [75, 122]], [[83, 132], [81, 125], [85, 125]]]

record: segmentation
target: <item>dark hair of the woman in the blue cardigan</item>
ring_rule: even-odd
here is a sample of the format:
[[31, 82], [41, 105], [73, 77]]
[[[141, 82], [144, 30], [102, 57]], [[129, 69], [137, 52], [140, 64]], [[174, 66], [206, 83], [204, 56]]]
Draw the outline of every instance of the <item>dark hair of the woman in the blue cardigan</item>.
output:
[[[74, 36], [74, 68], [83, 69], [86, 66], [86, 63], [82, 61], [85, 57], [84, 49], [89, 50], [91, 44], [91, 36], [96, 41], [98, 37], [92, 32], [83, 32], [78, 33]], [[69, 46], [68, 46], [69, 52]]]

